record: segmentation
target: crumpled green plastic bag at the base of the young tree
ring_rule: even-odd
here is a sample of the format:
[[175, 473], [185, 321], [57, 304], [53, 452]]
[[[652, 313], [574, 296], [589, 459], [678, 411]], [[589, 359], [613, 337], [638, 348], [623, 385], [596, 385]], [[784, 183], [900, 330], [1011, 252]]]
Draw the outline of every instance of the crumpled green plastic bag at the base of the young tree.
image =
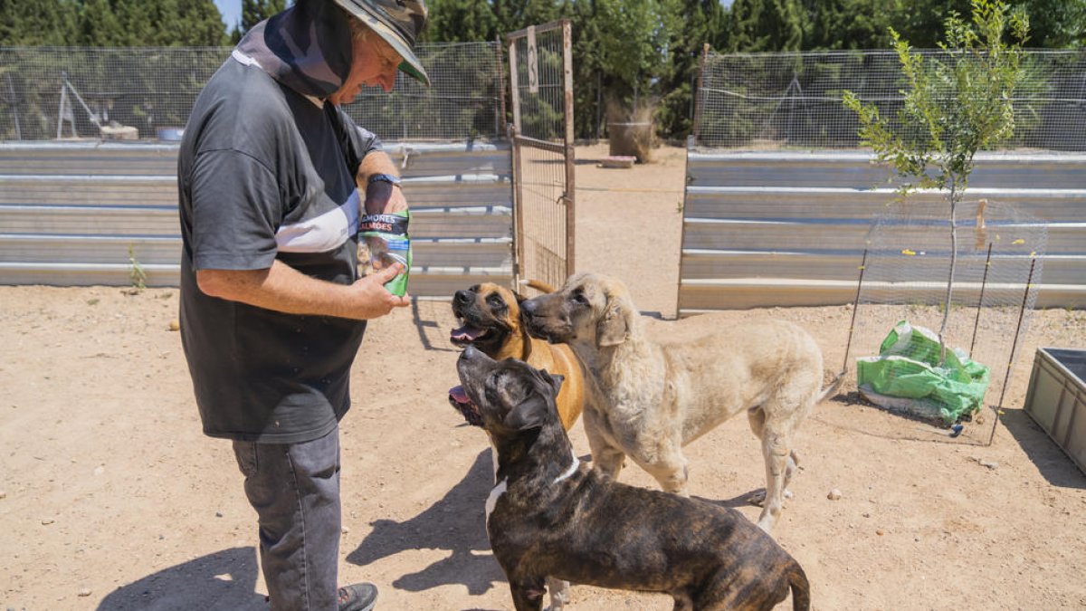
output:
[[879, 357], [857, 359], [857, 386], [876, 403], [872, 392], [911, 399], [908, 411], [958, 422], [984, 404], [989, 371], [958, 348], [948, 349], [940, 365], [939, 352], [937, 335], [901, 321], [879, 347]]

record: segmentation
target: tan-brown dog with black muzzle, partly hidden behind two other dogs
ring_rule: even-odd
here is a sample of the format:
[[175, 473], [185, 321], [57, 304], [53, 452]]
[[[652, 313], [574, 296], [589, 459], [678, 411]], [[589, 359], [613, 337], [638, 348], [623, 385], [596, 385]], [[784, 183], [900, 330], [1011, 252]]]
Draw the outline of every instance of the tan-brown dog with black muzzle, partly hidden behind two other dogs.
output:
[[[554, 289], [542, 283], [529, 286], [543, 291]], [[535, 369], [563, 376], [566, 383], [558, 394], [558, 415], [569, 431], [584, 407], [584, 374], [572, 349], [547, 344], [528, 335], [520, 322], [520, 297], [493, 283], [457, 290], [453, 296], [453, 314], [463, 326], [453, 329], [450, 340], [459, 347], [475, 346], [484, 354], [501, 361], [519, 359]]]

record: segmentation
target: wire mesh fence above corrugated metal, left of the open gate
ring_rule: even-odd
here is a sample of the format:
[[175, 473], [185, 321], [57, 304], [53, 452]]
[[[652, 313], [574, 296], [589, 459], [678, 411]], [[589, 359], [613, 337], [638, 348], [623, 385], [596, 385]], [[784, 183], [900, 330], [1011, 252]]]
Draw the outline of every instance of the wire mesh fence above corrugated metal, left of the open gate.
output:
[[[175, 139], [230, 48], [0, 48], [0, 140]], [[495, 42], [416, 50], [426, 88], [397, 76], [345, 108], [387, 140], [504, 135], [503, 60]]]

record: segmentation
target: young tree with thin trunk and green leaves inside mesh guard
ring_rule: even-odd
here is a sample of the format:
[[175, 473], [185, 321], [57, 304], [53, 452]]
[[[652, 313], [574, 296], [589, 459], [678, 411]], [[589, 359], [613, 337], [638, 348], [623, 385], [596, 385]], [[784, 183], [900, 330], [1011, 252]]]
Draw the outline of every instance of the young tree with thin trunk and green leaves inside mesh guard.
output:
[[[1022, 77], [1021, 50], [1028, 30], [1025, 14], [1009, 13], [999, 0], [972, 3], [972, 24], [957, 14], [946, 21], [946, 42], [939, 42], [944, 58], [913, 52], [891, 29], [907, 83], [898, 124], [851, 91], [844, 95], [845, 105], [859, 117], [860, 139], [880, 162], [888, 163], [905, 179], [902, 195], [918, 188], [948, 190], [950, 271], [939, 327], [942, 358], [946, 357], [943, 336], [958, 254], [955, 213], [969, 185], [976, 151], [996, 146], [1014, 132], [1012, 93]], [[1010, 45], [1005, 42], [1008, 30], [1015, 39]]]

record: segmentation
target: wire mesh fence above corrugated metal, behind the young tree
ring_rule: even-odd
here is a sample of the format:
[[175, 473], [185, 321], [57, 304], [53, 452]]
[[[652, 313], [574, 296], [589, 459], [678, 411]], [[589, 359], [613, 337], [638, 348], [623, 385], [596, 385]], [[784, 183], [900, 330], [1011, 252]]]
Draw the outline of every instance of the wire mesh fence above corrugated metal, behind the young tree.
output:
[[[917, 51], [924, 63], [952, 62], [944, 51]], [[1086, 150], [1086, 52], [1025, 51], [1014, 92], [1014, 135], [1005, 148]], [[843, 92], [893, 119], [906, 87], [893, 51], [709, 53], [695, 115], [696, 144], [772, 150], [860, 146], [859, 123]]]

